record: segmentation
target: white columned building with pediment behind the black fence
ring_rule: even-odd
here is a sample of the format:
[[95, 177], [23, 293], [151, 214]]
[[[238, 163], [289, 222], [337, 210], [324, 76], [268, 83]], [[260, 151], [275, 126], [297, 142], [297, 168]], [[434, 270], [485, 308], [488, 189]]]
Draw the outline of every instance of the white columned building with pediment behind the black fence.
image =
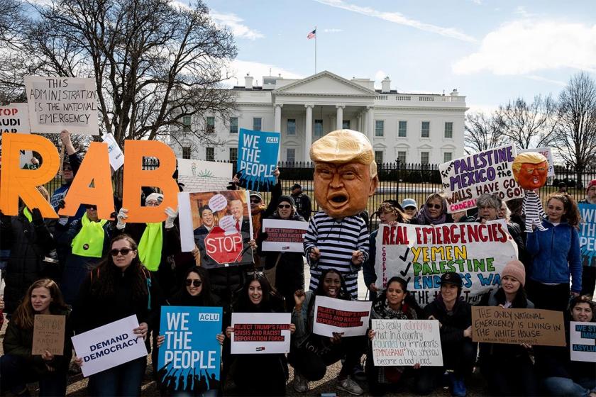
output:
[[[377, 162], [433, 164], [464, 155], [465, 96], [407, 94], [390, 89], [390, 79], [375, 90], [370, 79], [345, 79], [320, 72], [304, 79], [263, 77], [261, 86], [245, 77], [234, 86], [236, 111], [229, 120], [206, 115], [184, 124], [205, 123], [218, 138], [219, 147], [190, 141], [184, 133], [173, 147], [178, 157], [197, 160], [233, 160], [238, 155], [238, 130], [279, 131], [280, 161], [309, 161], [312, 142], [338, 128], [351, 128], [368, 136]], [[198, 149], [193, 149], [193, 148]]]

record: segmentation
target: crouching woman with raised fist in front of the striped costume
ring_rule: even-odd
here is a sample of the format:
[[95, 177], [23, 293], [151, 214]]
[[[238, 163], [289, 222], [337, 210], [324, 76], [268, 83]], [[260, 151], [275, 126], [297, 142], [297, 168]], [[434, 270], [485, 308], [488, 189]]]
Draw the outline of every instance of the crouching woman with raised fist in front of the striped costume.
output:
[[327, 367], [345, 359], [338, 374], [338, 388], [359, 396], [364, 391], [351, 379], [351, 374], [358, 367], [360, 357], [365, 350], [363, 337], [342, 337], [334, 333], [333, 337], [315, 335], [314, 308], [317, 296], [351, 301], [346, 281], [336, 269], [326, 269], [321, 274], [321, 282], [314, 291], [296, 291], [294, 293], [294, 311], [292, 323], [296, 333], [292, 348], [288, 354], [289, 364], [294, 367], [294, 390], [304, 393], [309, 390], [309, 381], [323, 379]]

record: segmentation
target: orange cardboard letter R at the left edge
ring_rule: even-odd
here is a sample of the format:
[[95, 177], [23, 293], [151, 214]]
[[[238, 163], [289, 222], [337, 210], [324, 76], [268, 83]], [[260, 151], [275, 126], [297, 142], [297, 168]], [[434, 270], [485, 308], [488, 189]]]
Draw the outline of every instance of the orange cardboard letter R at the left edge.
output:
[[[43, 162], [38, 169], [21, 169], [21, 150], [38, 152]], [[18, 198], [28, 208], [39, 208], [44, 218], [57, 218], [54, 208], [35, 186], [51, 181], [60, 168], [60, 156], [50, 140], [40, 135], [2, 134], [2, 176], [0, 209], [5, 215], [18, 215]]]

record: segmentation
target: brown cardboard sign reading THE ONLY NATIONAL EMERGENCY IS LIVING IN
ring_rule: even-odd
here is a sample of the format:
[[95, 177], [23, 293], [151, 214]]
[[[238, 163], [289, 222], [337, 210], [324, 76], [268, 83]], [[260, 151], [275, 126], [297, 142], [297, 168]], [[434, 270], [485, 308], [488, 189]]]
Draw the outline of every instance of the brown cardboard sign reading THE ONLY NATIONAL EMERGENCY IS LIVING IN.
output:
[[472, 306], [474, 342], [565, 346], [563, 312]]

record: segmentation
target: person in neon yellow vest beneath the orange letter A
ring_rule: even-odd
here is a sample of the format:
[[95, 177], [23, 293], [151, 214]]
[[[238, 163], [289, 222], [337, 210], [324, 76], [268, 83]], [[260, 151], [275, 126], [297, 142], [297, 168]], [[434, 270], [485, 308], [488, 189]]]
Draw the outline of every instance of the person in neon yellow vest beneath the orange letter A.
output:
[[73, 220], [66, 233], [57, 237], [58, 245], [68, 250], [60, 279], [60, 289], [67, 304], [72, 305], [82, 282], [109, 250], [111, 222], [97, 217], [97, 206], [84, 204], [82, 218]]

